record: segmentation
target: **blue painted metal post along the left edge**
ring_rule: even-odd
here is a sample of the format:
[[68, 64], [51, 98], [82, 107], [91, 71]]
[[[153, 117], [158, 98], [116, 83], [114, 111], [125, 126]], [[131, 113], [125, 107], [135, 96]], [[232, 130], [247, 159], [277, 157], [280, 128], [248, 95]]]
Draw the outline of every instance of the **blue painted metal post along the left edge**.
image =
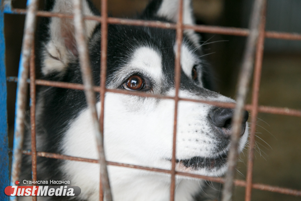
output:
[[6, 111], [6, 75], [5, 75], [5, 39], [4, 39], [4, 13], [0, 11], [0, 200], [7, 201], [4, 189], [9, 185], [9, 159]]

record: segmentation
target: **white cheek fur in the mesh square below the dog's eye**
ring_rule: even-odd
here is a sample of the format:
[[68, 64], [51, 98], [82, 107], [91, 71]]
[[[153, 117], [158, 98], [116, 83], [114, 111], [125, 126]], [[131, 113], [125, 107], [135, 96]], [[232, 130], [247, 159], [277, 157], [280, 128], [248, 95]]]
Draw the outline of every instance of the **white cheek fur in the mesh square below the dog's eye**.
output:
[[109, 159], [146, 165], [170, 158], [173, 112], [173, 100], [107, 94], [104, 135]]

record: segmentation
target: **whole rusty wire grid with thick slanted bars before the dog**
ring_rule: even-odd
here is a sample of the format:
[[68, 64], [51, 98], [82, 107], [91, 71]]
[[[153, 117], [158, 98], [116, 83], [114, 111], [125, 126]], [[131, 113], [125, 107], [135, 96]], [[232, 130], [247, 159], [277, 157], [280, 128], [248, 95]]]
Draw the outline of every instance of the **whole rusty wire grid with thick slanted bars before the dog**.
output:
[[[16, 145], [14, 144], [13, 150], [13, 165], [12, 165], [12, 174], [11, 174], [11, 185], [14, 185], [14, 182], [19, 177], [20, 172], [20, 162], [21, 155], [32, 155], [32, 179], [36, 181], [36, 157], [47, 157], [53, 159], [63, 159], [63, 160], [73, 160], [73, 161], [81, 161], [81, 162], [91, 162], [91, 163], [100, 163], [101, 164], [101, 179], [100, 179], [100, 200], [104, 199], [103, 194], [106, 196], [106, 200], [112, 200], [110, 193], [110, 184], [109, 178], [107, 175], [107, 165], [115, 165], [122, 166], [128, 168], [137, 168], [147, 171], [156, 171], [162, 172], [166, 174], [171, 174], [171, 186], [170, 186], [170, 200], [174, 201], [175, 194], [175, 175], [183, 175], [188, 177], [196, 177], [200, 179], [204, 179], [207, 181], [215, 181], [220, 183], [225, 183], [225, 185], [229, 186], [226, 188], [224, 193], [224, 200], [231, 200], [232, 193], [232, 183], [236, 186], [246, 187], [245, 200], [251, 200], [251, 192], [252, 189], [266, 190], [272, 191], [287, 195], [301, 196], [301, 190], [293, 190], [288, 188], [281, 188], [276, 186], [270, 186], [266, 184], [254, 184], [252, 182], [252, 173], [253, 173], [253, 155], [254, 155], [254, 143], [255, 143], [255, 130], [256, 130], [256, 117], [259, 112], [263, 113], [271, 113], [271, 114], [280, 114], [280, 115], [290, 115], [301, 117], [301, 110], [296, 109], [288, 109], [288, 108], [277, 108], [270, 106], [260, 106], [258, 105], [258, 95], [259, 95], [259, 86], [260, 86], [260, 77], [261, 77], [261, 67], [262, 67], [262, 58], [263, 58], [263, 44], [265, 38], [275, 38], [275, 39], [287, 39], [287, 40], [301, 40], [301, 34], [295, 33], [281, 33], [281, 32], [272, 32], [265, 31], [265, 8], [266, 8], [266, 0], [256, 0], [256, 6], [254, 7], [253, 17], [250, 19], [253, 23], [253, 26], [250, 29], [241, 29], [241, 28], [233, 28], [233, 27], [218, 27], [218, 26], [206, 26], [206, 25], [184, 25], [183, 24], [183, 0], [179, 0], [179, 14], [178, 21], [176, 24], [165, 23], [159, 21], [146, 21], [146, 20], [129, 20], [129, 19], [120, 19], [113, 18], [107, 16], [107, 0], [101, 0], [101, 16], [83, 16], [81, 11], [81, 0], [74, 0], [74, 15], [72, 14], [61, 14], [61, 13], [53, 13], [47, 11], [36, 11], [37, 8], [37, 0], [32, 0], [28, 10], [26, 9], [11, 9], [10, 13], [12, 14], [26, 14], [26, 24], [25, 24], [25, 32], [23, 36], [23, 45], [22, 45], [22, 64], [23, 64], [23, 74], [22, 77], [8, 77], [8, 81], [18, 81], [18, 96], [17, 103], [20, 104], [17, 110], [17, 121], [15, 123], [15, 138], [19, 137]], [[82, 77], [84, 84], [74, 84], [74, 83], [64, 83], [64, 82], [54, 82], [48, 80], [37, 80], [35, 77], [35, 53], [33, 46], [33, 33], [35, 30], [36, 17], [60, 17], [60, 18], [74, 18], [75, 22], [75, 30], [76, 30], [76, 42], [79, 48], [79, 58], [82, 70]], [[83, 20], [96, 20], [101, 23], [101, 75], [100, 75], [100, 86], [92, 86], [92, 78], [91, 78], [91, 69], [89, 67], [90, 61], [88, 58], [88, 51], [84, 37], [84, 29], [83, 29]], [[107, 33], [108, 33], [108, 24], [123, 24], [123, 25], [133, 25], [133, 26], [147, 26], [147, 27], [158, 27], [165, 29], [175, 29], [176, 30], [176, 54], [175, 54], [175, 96], [162, 96], [141, 92], [133, 92], [133, 91], [124, 91], [124, 90], [113, 90], [106, 89], [106, 70], [107, 70]], [[181, 55], [181, 43], [183, 37], [183, 30], [191, 29], [196, 32], [202, 33], [215, 33], [215, 34], [226, 34], [226, 35], [234, 35], [234, 36], [247, 36], [248, 43], [246, 52], [249, 51], [249, 54], [246, 53], [243, 66], [247, 65], [248, 70], [242, 70], [240, 74], [240, 82], [239, 93], [242, 93], [240, 100], [238, 100], [237, 104], [234, 103], [226, 103], [226, 102], [215, 102], [215, 101], [206, 101], [199, 99], [186, 99], [178, 97], [178, 90], [180, 86], [180, 55]], [[255, 51], [256, 47], [256, 51]], [[30, 53], [31, 52], [31, 53]], [[245, 95], [247, 90], [249, 89], [249, 79], [251, 77], [251, 71], [253, 68], [254, 61], [254, 53], [255, 53], [255, 67], [254, 67], [254, 76], [253, 76], [253, 91], [252, 91], [252, 104], [246, 105], [244, 102]], [[30, 58], [30, 59], [29, 59]], [[28, 70], [30, 69], [30, 75], [28, 79]], [[243, 68], [244, 69], [244, 68]], [[246, 70], [246, 69], [245, 69]], [[243, 83], [244, 82], [244, 83]], [[23, 142], [23, 133], [24, 133], [24, 114], [25, 114], [25, 104], [26, 104], [26, 90], [27, 84], [30, 83], [30, 120], [31, 120], [31, 151], [22, 151], [22, 142]], [[86, 95], [86, 100], [89, 105], [89, 108], [92, 111], [93, 121], [95, 130], [97, 131], [96, 137], [98, 142], [98, 150], [99, 150], [99, 160], [94, 159], [85, 159], [67, 155], [60, 155], [57, 153], [48, 153], [48, 152], [36, 152], [36, 125], [35, 125], [35, 107], [36, 107], [36, 85], [44, 85], [44, 86], [52, 86], [52, 87], [61, 87], [68, 88], [74, 90], [84, 90]], [[101, 114], [98, 119], [96, 108], [95, 108], [95, 93], [100, 93], [100, 101], [101, 101]], [[104, 95], [106, 92], [113, 93], [122, 93], [122, 94], [130, 94], [136, 96], [144, 96], [144, 97], [156, 97], [161, 99], [173, 99], [175, 101], [175, 113], [174, 113], [174, 132], [173, 132], [173, 147], [172, 147], [172, 168], [171, 170], [164, 170], [152, 167], [143, 167], [138, 165], [130, 165], [130, 164], [122, 164], [116, 162], [109, 162], [105, 160], [104, 157], [104, 148], [103, 148], [103, 133], [104, 133]], [[239, 99], [239, 98], [238, 98]], [[192, 101], [192, 102], [202, 102], [206, 104], [216, 105], [219, 107], [225, 108], [235, 108], [235, 115], [237, 116], [236, 121], [234, 121], [233, 127], [239, 128], [241, 123], [241, 112], [243, 109], [252, 111], [251, 118], [251, 135], [250, 135], [250, 147], [248, 153], [248, 163], [247, 163], [247, 177], [246, 181], [234, 179], [234, 171], [235, 171], [235, 161], [236, 161], [236, 153], [237, 147], [233, 148], [233, 156], [231, 157], [230, 163], [230, 171], [228, 174], [232, 174], [230, 179], [224, 179], [221, 177], [208, 177], [197, 174], [189, 174], [184, 172], [179, 172], [175, 170], [175, 149], [176, 149], [176, 126], [177, 126], [177, 108], [178, 101]], [[234, 115], [234, 119], [235, 119]], [[236, 130], [236, 133], [239, 133], [239, 129]], [[235, 132], [234, 132], [235, 134]], [[235, 140], [235, 139], [234, 139]], [[237, 140], [237, 139], [236, 139]], [[17, 144], [18, 143], [18, 144]], [[231, 139], [231, 144], [233, 143], [233, 138]], [[231, 154], [230, 154], [231, 155]], [[104, 191], [104, 193], [103, 193]], [[15, 198], [11, 198], [13, 200]], [[36, 200], [36, 196], [33, 196], [33, 200]]]

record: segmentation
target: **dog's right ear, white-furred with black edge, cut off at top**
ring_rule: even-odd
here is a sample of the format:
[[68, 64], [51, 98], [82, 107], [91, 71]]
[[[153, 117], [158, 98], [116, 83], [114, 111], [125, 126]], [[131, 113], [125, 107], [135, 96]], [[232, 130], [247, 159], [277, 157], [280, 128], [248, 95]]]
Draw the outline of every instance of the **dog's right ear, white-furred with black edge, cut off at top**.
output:
[[[163, 17], [174, 23], [178, 20], [179, 0], [152, 0], [145, 8], [142, 17]], [[191, 0], [183, 0], [183, 24], [193, 25], [193, 9]], [[193, 30], [185, 30], [184, 33], [194, 42], [196, 46], [199, 45], [200, 37]]]

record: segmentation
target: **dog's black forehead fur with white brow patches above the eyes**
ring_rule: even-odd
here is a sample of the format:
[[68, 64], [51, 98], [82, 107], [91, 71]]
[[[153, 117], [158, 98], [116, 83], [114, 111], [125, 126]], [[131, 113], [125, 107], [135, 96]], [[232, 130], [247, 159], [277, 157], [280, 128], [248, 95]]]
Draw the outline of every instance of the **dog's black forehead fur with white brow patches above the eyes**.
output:
[[[174, 86], [175, 30], [110, 25], [108, 36], [107, 74], [118, 84], [133, 74], [142, 74], [157, 83], [163, 81], [164, 86]], [[95, 32], [90, 44], [90, 49], [97, 57], [97, 51], [100, 49], [100, 29]], [[202, 65], [199, 59], [201, 55], [200, 49], [184, 33], [181, 47], [181, 82], [185, 86], [194, 84], [191, 72], [195, 65]], [[98, 63], [95, 68], [99, 68]], [[197, 69], [201, 77], [203, 68]], [[202, 82], [200, 79], [199, 85], [202, 85]]]

